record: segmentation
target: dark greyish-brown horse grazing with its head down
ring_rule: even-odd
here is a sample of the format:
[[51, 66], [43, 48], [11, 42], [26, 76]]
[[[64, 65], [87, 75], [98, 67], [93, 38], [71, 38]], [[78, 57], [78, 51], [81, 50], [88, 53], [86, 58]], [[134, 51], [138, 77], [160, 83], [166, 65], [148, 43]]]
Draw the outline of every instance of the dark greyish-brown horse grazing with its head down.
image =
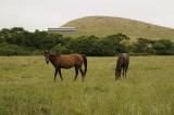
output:
[[121, 73], [123, 73], [123, 77], [125, 76], [126, 78], [128, 64], [129, 64], [129, 55], [127, 53], [121, 53], [117, 58], [116, 69], [115, 69], [115, 80], [119, 78], [121, 79]]

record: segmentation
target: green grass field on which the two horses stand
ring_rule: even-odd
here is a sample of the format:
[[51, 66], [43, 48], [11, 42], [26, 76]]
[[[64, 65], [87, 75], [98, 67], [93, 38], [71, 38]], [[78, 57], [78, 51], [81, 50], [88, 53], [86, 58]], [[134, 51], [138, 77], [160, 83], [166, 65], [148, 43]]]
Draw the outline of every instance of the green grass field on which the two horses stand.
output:
[[174, 115], [174, 56], [130, 56], [114, 80], [116, 58], [88, 58], [85, 81], [64, 81], [44, 56], [0, 56], [1, 115]]

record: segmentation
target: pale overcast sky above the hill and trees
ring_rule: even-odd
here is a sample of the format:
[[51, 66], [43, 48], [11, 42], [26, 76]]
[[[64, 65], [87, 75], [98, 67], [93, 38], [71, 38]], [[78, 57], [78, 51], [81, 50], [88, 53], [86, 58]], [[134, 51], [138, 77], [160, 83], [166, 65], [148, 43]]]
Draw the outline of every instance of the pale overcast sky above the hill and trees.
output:
[[174, 28], [174, 0], [0, 0], [0, 29], [47, 30], [84, 16], [114, 16]]

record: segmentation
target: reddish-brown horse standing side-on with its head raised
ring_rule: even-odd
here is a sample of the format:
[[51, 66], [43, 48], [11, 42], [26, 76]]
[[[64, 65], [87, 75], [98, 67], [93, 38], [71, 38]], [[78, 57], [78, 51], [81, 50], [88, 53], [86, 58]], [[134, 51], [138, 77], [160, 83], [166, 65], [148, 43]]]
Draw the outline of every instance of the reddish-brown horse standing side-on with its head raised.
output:
[[[84, 54], [57, 54], [57, 53], [50, 53], [45, 51], [45, 59], [47, 64], [49, 61], [52, 63], [52, 65], [55, 67], [54, 73], [54, 81], [57, 79], [57, 74], [59, 72], [60, 78], [63, 81], [61, 68], [71, 68], [75, 67], [75, 78], [76, 80], [78, 75], [78, 69], [82, 74], [83, 81], [87, 72], [87, 58]], [[85, 71], [83, 71], [82, 66], [85, 65]]]

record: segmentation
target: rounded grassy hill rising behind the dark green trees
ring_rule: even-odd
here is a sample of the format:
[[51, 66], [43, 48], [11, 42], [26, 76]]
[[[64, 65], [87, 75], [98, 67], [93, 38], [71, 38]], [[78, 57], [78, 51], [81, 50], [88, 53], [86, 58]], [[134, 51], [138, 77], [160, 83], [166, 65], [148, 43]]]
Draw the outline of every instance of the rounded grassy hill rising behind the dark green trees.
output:
[[76, 27], [77, 31], [65, 36], [96, 35], [105, 37], [122, 33], [130, 38], [171, 39], [174, 40], [174, 29], [148, 24], [145, 22], [111, 16], [86, 16], [71, 21], [63, 27]]

